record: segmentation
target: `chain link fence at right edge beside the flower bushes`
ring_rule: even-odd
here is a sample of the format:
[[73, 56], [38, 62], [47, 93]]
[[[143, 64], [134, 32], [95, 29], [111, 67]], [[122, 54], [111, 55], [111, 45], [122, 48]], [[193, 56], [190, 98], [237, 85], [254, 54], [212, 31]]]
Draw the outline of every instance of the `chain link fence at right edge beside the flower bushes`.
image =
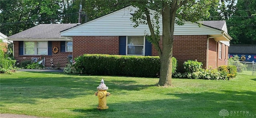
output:
[[234, 65], [237, 68], [237, 74], [256, 75], [256, 63], [243, 61], [225, 61], [225, 64]]

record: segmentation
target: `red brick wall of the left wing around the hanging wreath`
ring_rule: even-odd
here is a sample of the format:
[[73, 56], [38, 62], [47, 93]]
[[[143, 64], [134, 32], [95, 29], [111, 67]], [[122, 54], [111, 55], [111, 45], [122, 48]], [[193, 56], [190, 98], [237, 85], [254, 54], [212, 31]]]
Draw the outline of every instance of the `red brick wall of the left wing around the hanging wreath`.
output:
[[[21, 63], [22, 61], [30, 60], [31, 57], [40, 57], [40, 55], [19, 55], [19, 42], [14, 41], [14, 58], [19, 60], [18, 62]], [[45, 64], [44, 66], [46, 69], [51, 67], [50, 59], [53, 59], [53, 63], [55, 65], [55, 69], [58, 67], [58, 62], [60, 63], [60, 67], [63, 68], [67, 64], [67, 57], [68, 55], [72, 55], [72, 52], [60, 52], [60, 41], [52, 41], [52, 47], [58, 47], [58, 53], [52, 53], [52, 55], [45, 55]]]

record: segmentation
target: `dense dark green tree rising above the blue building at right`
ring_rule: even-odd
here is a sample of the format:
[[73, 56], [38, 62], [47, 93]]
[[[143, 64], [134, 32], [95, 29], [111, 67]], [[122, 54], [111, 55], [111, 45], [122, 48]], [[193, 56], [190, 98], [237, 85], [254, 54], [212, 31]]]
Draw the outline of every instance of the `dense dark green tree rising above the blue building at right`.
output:
[[238, 0], [227, 20], [233, 44], [256, 44], [256, 1]]

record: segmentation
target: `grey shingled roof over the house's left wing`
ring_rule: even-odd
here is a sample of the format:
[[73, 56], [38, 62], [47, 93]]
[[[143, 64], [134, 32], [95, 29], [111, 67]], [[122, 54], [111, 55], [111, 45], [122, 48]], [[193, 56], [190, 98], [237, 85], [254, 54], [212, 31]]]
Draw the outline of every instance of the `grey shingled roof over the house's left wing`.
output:
[[20, 33], [16, 33], [8, 37], [8, 39], [18, 39], [18, 38], [61, 38], [60, 31], [72, 28], [76, 24], [40, 24], [24, 30]]

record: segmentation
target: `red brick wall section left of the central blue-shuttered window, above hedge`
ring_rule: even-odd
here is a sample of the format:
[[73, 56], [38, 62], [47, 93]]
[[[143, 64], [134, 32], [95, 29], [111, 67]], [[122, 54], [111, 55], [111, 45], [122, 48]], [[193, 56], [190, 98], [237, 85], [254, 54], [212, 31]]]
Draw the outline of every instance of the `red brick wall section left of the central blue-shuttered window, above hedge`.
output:
[[83, 54], [119, 54], [119, 36], [75, 36], [73, 58]]

